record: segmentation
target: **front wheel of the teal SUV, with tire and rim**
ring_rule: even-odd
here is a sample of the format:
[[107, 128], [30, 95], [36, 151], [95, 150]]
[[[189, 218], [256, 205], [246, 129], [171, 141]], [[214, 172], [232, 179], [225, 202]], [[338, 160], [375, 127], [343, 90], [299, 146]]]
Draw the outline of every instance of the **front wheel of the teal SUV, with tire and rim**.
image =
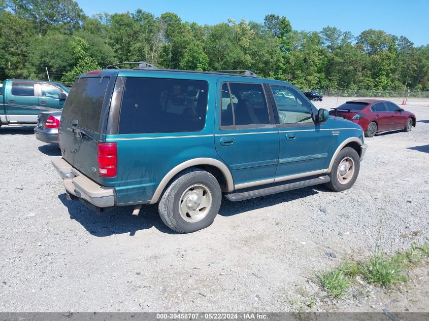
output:
[[[349, 167], [346, 173], [344, 173], [343, 165], [346, 167], [352, 165], [352, 167]], [[332, 170], [329, 173], [331, 182], [326, 183], [325, 187], [335, 192], [348, 190], [353, 186], [354, 182], [356, 182], [359, 170], [360, 161], [357, 152], [351, 147], [343, 148], [340, 153], [338, 153]]]

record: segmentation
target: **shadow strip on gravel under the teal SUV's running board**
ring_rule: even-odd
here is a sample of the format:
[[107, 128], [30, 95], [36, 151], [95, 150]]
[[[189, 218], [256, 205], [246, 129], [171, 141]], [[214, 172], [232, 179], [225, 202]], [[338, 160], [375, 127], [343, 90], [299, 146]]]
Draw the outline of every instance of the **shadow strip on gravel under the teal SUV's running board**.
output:
[[231, 202], [228, 201], [226, 198], [223, 198], [222, 205], [220, 205], [219, 209], [219, 215], [225, 217], [233, 216], [249, 210], [273, 206], [279, 203], [316, 195], [318, 194], [318, 191], [325, 192], [329, 190], [324, 188], [323, 186], [312, 186], [299, 190], [292, 190], [283, 193], [253, 198], [241, 202]]

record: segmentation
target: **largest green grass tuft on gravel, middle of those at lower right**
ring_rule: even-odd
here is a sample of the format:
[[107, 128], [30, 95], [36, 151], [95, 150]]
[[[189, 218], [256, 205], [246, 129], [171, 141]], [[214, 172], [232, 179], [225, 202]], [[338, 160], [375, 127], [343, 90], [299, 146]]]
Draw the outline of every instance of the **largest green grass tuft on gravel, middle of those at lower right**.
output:
[[370, 258], [363, 264], [363, 275], [370, 284], [375, 284], [383, 288], [390, 288], [394, 284], [406, 282], [407, 277], [403, 274], [406, 265], [397, 256], [385, 258], [381, 252]]

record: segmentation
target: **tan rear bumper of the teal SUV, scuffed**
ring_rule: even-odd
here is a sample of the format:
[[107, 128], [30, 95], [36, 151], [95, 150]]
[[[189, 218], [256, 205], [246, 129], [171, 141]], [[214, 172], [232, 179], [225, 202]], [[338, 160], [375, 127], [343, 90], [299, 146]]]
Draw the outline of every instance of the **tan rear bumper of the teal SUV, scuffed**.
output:
[[63, 158], [52, 159], [52, 165], [61, 176], [65, 190], [68, 193], [82, 198], [97, 207], [115, 205], [113, 188], [98, 185]]

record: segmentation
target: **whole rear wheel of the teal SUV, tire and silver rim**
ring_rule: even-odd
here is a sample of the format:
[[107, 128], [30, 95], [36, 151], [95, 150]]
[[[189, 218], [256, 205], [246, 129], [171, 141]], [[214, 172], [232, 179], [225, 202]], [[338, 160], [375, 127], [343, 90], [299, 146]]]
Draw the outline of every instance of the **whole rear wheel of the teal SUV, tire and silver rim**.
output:
[[173, 231], [191, 233], [213, 223], [221, 200], [216, 178], [192, 167], [182, 171], [167, 186], [158, 202], [158, 212], [162, 222]]

